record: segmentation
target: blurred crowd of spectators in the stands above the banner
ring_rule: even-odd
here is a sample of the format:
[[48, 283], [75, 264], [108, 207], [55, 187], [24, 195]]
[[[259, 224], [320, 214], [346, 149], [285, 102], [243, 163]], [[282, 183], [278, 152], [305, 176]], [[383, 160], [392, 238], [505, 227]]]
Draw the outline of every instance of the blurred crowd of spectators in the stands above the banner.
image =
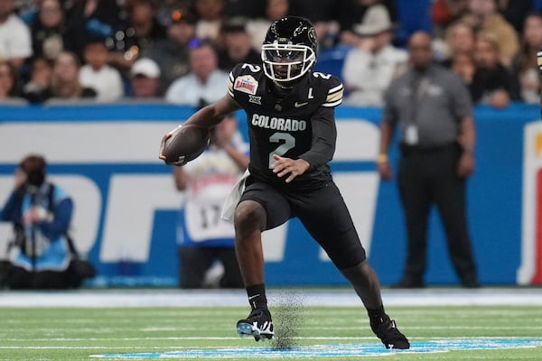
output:
[[541, 9], [538, 0], [2, 0], [0, 104], [209, 103], [236, 63], [260, 61], [269, 24], [286, 14], [314, 23], [316, 69], [344, 81], [348, 105], [381, 105], [418, 30], [476, 104], [537, 103]]

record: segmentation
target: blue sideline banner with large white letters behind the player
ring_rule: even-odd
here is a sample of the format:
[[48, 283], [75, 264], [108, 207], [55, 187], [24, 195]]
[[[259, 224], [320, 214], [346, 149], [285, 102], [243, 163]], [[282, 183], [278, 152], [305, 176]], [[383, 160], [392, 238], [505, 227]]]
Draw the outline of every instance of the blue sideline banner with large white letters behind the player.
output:
[[[91, 285], [175, 286], [175, 227], [182, 193], [172, 169], [157, 158], [160, 139], [192, 114], [169, 105], [1, 106], [0, 202], [13, 186], [17, 163], [42, 153], [51, 179], [75, 202], [72, 233], [97, 265]], [[469, 183], [469, 224], [482, 284], [540, 282], [542, 229], [538, 169], [542, 128], [537, 106], [504, 111], [476, 109], [477, 171]], [[405, 256], [403, 214], [397, 183], [380, 182], [380, 109], [340, 106], [332, 171], [369, 260], [383, 284], [396, 282]], [[244, 114], [239, 125], [246, 132]], [[529, 125], [534, 123], [535, 125]], [[528, 125], [528, 126], [526, 126]], [[534, 129], [534, 130], [531, 130]], [[535, 135], [532, 135], [535, 134]], [[534, 136], [534, 141], [529, 139]], [[531, 149], [531, 144], [535, 149]], [[524, 154], [525, 153], [525, 154]], [[524, 157], [525, 155], [525, 157]], [[397, 149], [390, 154], [397, 161]], [[540, 157], [542, 158], [542, 157]], [[538, 193], [537, 193], [538, 192]], [[10, 225], [0, 226], [0, 257]], [[539, 235], [538, 235], [539, 236]], [[266, 232], [266, 282], [270, 285], [345, 284], [329, 258], [292, 220]], [[429, 229], [426, 282], [456, 284], [435, 212]], [[538, 276], [537, 276], [538, 274]]]

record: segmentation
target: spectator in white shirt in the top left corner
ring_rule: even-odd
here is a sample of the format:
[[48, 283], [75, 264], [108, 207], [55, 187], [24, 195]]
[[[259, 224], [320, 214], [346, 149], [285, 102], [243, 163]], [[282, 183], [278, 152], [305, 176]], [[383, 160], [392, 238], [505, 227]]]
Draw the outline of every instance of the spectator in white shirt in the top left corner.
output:
[[32, 38], [14, 7], [14, 0], [0, 1], [0, 59], [9, 61], [19, 71], [24, 60], [32, 56]]

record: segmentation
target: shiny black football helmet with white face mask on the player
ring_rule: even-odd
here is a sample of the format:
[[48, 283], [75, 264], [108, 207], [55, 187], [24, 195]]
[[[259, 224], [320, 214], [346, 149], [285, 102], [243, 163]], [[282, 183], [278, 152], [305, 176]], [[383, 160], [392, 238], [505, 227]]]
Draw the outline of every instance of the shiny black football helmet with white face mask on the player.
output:
[[317, 53], [313, 24], [303, 17], [285, 16], [267, 31], [262, 45], [264, 72], [277, 82], [300, 79], [313, 66]]

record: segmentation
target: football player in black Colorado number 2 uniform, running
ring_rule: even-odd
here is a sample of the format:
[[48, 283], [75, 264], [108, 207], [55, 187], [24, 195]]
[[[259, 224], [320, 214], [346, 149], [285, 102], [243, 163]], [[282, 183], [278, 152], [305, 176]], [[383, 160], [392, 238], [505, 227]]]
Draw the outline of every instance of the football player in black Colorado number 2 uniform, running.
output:
[[[212, 127], [240, 108], [248, 116], [250, 162], [240, 199], [233, 204], [236, 253], [251, 310], [237, 323], [239, 336], [273, 338], [267, 309], [261, 234], [299, 218], [352, 284], [369, 313], [371, 329], [387, 348], [409, 348], [384, 310], [378, 276], [369, 265], [349, 210], [332, 180], [334, 108], [339, 79], [313, 71], [317, 40], [312, 23], [286, 16], [269, 27], [263, 64], [238, 64], [228, 94], [201, 108], [187, 124]], [[160, 158], [165, 160], [164, 143]]]

